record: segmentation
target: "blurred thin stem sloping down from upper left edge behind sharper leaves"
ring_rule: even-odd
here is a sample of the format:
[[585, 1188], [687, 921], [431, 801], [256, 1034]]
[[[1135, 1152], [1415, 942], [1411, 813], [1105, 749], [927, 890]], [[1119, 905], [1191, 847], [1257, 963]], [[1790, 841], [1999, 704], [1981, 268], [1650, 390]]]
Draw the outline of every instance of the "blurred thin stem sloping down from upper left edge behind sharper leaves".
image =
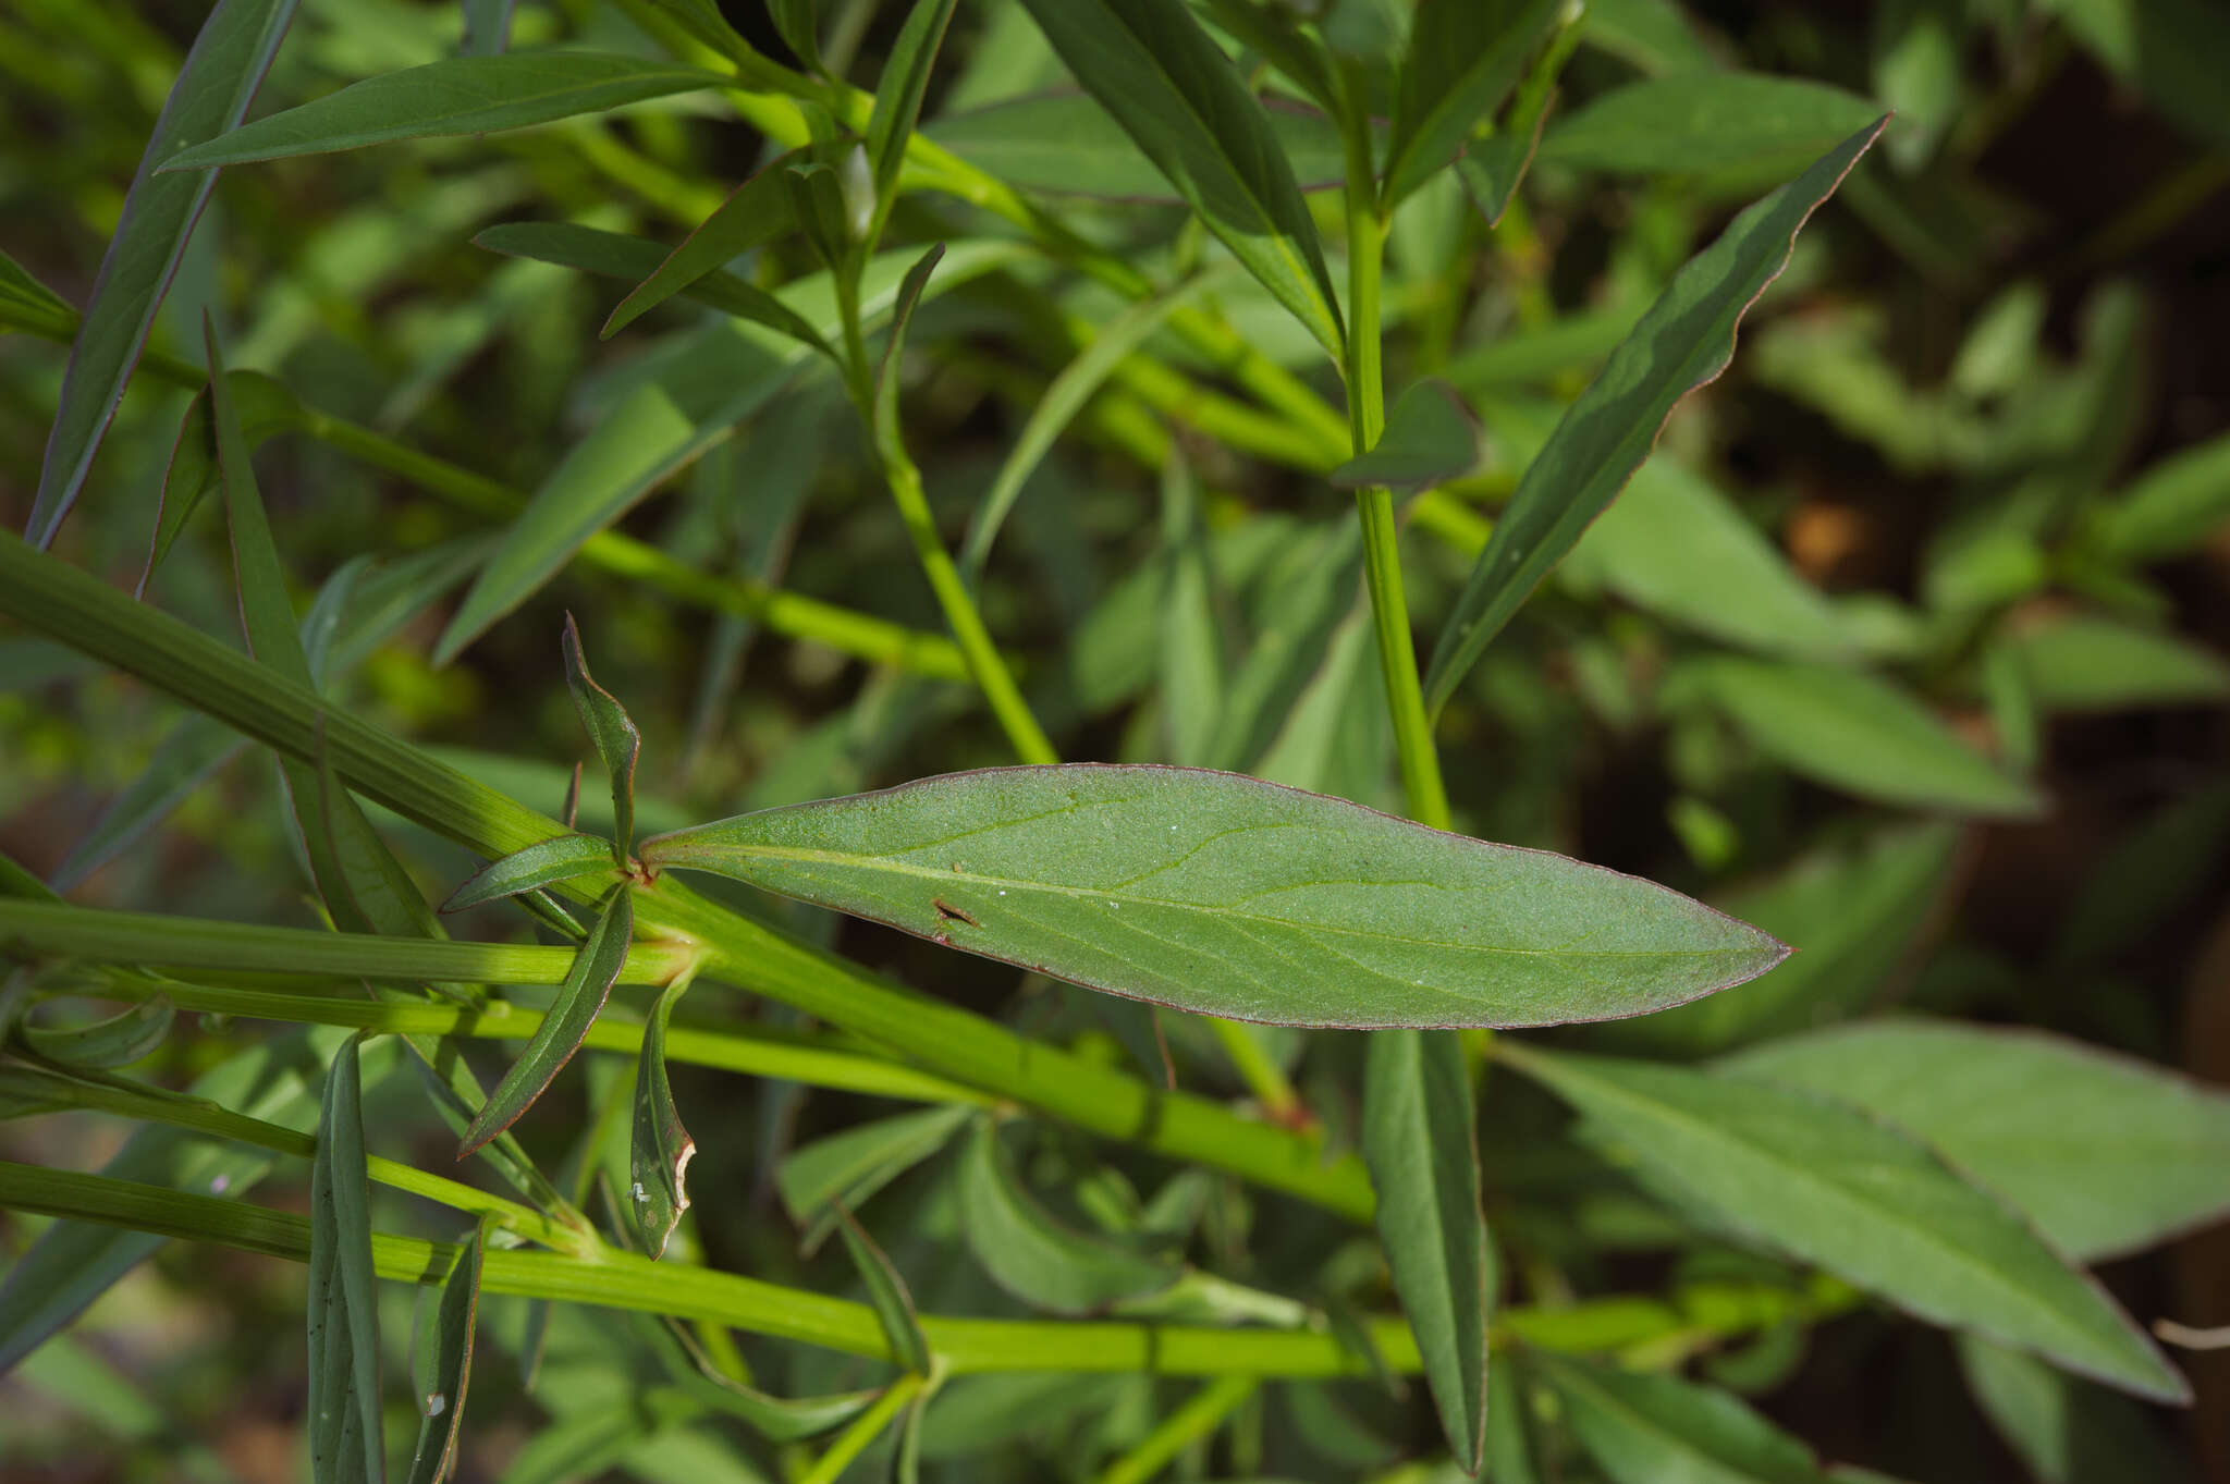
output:
[[[78, 321], [40, 321], [22, 323], [22, 328], [67, 345], [78, 332]], [[165, 354], [152, 352], [143, 357], [140, 370], [190, 390], [207, 383], [207, 372], [198, 365]], [[524, 490], [515, 490], [500, 479], [488, 479], [448, 459], [419, 452], [346, 417], [299, 406], [294, 428], [303, 437], [395, 475], [468, 515], [508, 521], [529, 504]], [[803, 593], [774, 588], [752, 577], [718, 577], [618, 530], [598, 530], [582, 541], [578, 557], [613, 577], [640, 582], [698, 608], [747, 617], [792, 640], [827, 644], [838, 653], [856, 655], [870, 664], [890, 664], [932, 680], [968, 680], [968, 662], [952, 640], [943, 635], [905, 628], [903, 624], [825, 604]]]

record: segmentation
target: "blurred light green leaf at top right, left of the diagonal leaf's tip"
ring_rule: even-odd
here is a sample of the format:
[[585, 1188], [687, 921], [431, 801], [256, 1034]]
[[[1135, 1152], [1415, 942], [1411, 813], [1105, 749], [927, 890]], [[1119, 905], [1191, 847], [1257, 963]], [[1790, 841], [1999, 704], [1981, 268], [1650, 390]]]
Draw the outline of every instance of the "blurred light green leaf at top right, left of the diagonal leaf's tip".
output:
[[1867, 129], [1880, 105], [1809, 78], [1753, 71], [1679, 74], [1628, 82], [1561, 116], [1541, 158], [1581, 169], [1780, 172]]

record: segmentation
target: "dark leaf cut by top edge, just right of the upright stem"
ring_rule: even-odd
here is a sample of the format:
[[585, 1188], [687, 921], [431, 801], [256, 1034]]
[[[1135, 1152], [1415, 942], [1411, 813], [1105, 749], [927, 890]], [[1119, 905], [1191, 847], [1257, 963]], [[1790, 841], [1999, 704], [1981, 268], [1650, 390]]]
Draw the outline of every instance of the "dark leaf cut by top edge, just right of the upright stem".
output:
[[1409, 25], [1387, 140], [1383, 209], [1394, 209], [1490, 123], [1563, 11], [1561, 0], [1423, 0]]

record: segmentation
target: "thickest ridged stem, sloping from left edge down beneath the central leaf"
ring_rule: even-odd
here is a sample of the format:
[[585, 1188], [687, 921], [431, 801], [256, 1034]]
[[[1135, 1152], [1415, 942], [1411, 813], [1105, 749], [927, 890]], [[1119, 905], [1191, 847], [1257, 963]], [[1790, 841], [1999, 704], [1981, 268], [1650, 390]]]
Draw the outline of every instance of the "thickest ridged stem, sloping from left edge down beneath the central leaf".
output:
[[[167, 613], [132, 602], [60, 557], [31, 550], [7, 530], [0, 530], [0, 613], [290, 758], [317, 762], [323, 755], [363, 798], [491, 860], [562, 833], [558, 820], [272, 675]], [[578, 887], [566, 891], [589, 898]], [[1162, 1092], [1017, 1036], [986, 1016], [727, 911], [671, 876], [636, 894], [636, 925], [647, 938], [702, 947], [709, 954], [707, 976], [794, 1005], [939, 1076], [1104, 1139], [1282, 1190], [1354, 1221], [1371, 1217], [1363, 1161], [1354, 1154], [1327, 1159], [1320, 1132], [1242, 1119], [1209, 1099]]]

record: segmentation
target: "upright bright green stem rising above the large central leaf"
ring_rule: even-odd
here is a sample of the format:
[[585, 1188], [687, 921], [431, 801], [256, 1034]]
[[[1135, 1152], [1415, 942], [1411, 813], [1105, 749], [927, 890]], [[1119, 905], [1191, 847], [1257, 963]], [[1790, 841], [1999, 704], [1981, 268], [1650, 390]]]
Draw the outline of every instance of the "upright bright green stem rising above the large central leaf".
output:
[[[1342, 120], [1347, 143], [1347, 417], [1354, 452], [1367, 452], [1385, 432], [1385, 372], [1378, 354], [1378, 279], [1385, 256], [1385, 218], [1378, 214], [1371, 167], [1371, 127], [1360, 71], [1349, 71], [1349, 107]], [[1432, 744], [1432, 717], [1416, 673], [1416, 640], [1409, 635], [1409, 602], [1400, 579], [1400, 526], [1394, 492], [1385, 486], [1356, 490], [1363, 517], [1363, 577], [1371, 593], [1371, 626], [1378, 635], [1378, 668], [1387, 684], [1394, 751], [1400, 758], [1403, 798], [1409, 818], [1432, 829], [1450, 829], [1447, 787], [1441, 753]]]

